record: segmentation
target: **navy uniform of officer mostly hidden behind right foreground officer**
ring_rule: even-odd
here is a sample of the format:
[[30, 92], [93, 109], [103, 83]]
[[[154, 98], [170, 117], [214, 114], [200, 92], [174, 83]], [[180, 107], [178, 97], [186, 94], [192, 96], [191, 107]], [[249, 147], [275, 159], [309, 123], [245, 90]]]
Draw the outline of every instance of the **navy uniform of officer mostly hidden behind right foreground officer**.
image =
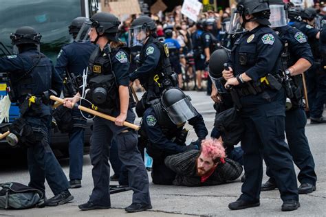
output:
[[[305, 60], [314, 64], [314, 58], [309, 44], [307, 43], [305, 34], [289, 25], [277, 27], [275, 31], [279, 32], [279, 37], [285, 45], [284, 52], [287, 52], [287, 54], [284, 55], [286, 60], [283, 62], [285, 69], [294, 65], [294, 63], [300, 58], [305, 58]], [[302, 76], [292, 76], [292, 80], [294, 80], [296, 87], [301, 89], [301, 93], [299, 93], [300, 96], [298, 96], [298, 98], [294, 97], [291, 99], [292, 108], [285, 113], [285, 133], [287, 143], [289, 144], [293, 161], [300, 169], [300, 172], [298, 173], [298, 181], [301, 184], [309, 183], [315, 186], [317, 179], [314, 171], [315, 163], [314, 158], [312, 157], [312, 152], [309, 148], [307, 137], [305, 136], [307, 117], [302, 103]], [[267, 168], [267, 174], [270, 174], [269, 168]]]

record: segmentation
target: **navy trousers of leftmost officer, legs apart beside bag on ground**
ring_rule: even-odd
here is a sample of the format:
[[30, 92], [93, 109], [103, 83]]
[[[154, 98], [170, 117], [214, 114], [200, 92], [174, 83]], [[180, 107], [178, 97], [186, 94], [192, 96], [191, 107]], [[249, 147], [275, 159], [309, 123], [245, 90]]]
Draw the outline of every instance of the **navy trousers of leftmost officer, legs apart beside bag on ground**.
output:
[[49, 146], [50, 116], [26, 117], [26, 120], [33, 128], [39, 128], [44, 135], [41, 142], [28, 148], [27, 159], [30, 172], [28, 186], [45, 193], [46, 179], [54, 195], [67, 190], [69, 188], [67, 177]]

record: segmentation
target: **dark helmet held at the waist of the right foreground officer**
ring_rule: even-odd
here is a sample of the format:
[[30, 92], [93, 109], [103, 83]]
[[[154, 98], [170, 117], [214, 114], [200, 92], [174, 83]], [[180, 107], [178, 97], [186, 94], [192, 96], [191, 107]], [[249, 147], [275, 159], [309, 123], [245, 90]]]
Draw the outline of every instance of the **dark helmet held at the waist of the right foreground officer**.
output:
[[222, 81], [224, 80], [222, 71], [224, 70], [224, 63], [228, 62], [229, 53], [230, 51], [227, 49], [221, 48], [217, 49], [210, 56], [208, 74], [210, 76], [210, 80], [212, 80], [213, 85], [219, 93], [226, 93], [224, 84], [222, 84]]

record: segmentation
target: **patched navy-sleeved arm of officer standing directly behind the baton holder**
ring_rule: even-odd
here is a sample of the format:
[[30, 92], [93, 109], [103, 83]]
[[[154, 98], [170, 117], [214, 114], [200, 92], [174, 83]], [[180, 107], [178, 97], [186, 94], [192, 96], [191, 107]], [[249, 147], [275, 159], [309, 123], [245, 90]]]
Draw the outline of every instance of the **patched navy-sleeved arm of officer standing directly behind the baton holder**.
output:
[[158, 61], [160, 60], [161, 52], [160, 49], [154, 44], [149, 45], [146, 50], [146, 59], [142, 65], [133, 71], [129, 78], [133, 82], [137, 78], [149, 76], [151, 71], [157, 67]]

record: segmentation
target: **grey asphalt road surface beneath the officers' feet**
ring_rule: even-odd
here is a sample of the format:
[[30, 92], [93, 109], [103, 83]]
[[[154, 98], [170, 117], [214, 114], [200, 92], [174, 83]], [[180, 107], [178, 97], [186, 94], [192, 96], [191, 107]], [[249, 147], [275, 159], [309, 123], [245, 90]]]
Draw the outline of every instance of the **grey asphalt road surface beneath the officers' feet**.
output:
[[[213, 128], [215, 113], [210, 98], [204, 92], [187, 92], [193, 99], [197, 110], [203, 114], [210, 133]], [[139, 122], [139, 119], [138, 119]], [[317, 190], [312, 194], [301, 195], [301, 207], [294, 212], [281, 212], [282, 201], [277, 190], [261, 193], [261, 205], [250, 209], [231, 211], [228, 203], [235, 201], [241, 193], [241, 182], [238, 179], [226, 185], [211, 187], [177, 187], [150, 184], [153, 209], [138, 214], [126, 214], [124, 207], [130, 205], [132, 192], [122, 192], [111, 195], [113, 209], [80, 212], [78, 205], [85, 203], [93, 187], [91, 179], [91, 163], [89, 156], [84, 157], [83, 187], [71, 190], [75, 199], [72, 203], [60, 207], [45, 207], [43, 209], [1, 210], [0, 216], [179, 216], [179, 214], [195, 216], [326, 216], [326, 124], [306, 126], [306, 134], [316, 163], [318, 175]], [[194, 131], [188, 141], [195, 139]], [[29, 174], [21, 156], [14, 153], [6, 157], [0, 156], [0, 183], [17, 181], [28, 183]], [[66, 175], [69, 174], [69, 160], [61, 159], [61, 165]], [[296, 172], [298, 172], [296, 168]], [[149, 174], [150, 176], [150, 174]], [[267, 176], [263, 176], [263, 181]], [[47, 198], [52, 196], [47, 186]]]

